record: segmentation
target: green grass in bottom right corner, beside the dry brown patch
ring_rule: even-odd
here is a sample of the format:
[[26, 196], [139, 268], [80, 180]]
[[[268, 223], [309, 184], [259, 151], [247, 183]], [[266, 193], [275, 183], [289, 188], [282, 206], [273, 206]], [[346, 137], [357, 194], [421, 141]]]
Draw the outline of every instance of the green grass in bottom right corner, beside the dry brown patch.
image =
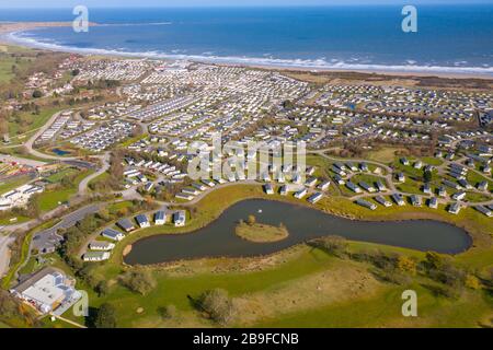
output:
[[435, 296], [421, 284], [410, 289], [417, 293], [417, 317], [403, 317], [401, 294], [404, 288], [389, 285], [369, 299], [334, 303], [256, 324], [256, 327], [478, 327], [491, 307], [481, 293], [468, 292], [459, 301]]

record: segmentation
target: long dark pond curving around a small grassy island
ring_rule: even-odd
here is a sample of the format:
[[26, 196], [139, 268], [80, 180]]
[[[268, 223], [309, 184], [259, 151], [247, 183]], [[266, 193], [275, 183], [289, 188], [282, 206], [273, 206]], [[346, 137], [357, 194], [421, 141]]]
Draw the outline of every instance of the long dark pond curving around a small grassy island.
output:
[[[260, 223], [283, 223], [289, 236], [275, 243], [252, 243], [238, 237], [234, 234], [237, 223], [251, 214]], [[355, 221], [308, 207], [251, 199], [236, 203], [208, 226], [193, 233], [162, 234], [137, 241], [125, 262], [151, 265], [205, 257], [252, 257], [326, 235], [447, 254], [461, 253], [472, 244], [466, 231], [438, 221]]]

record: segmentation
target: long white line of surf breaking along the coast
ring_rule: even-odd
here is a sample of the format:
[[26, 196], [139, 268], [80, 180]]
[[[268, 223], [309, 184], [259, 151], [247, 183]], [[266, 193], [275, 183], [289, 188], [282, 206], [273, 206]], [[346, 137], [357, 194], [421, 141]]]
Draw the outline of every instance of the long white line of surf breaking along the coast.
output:
[[410, 73], [454, 73], [454, 74], [482, 74], [493, 77], [493, 67], [483, 65], [480, 67], [457, 67], [457, 66], [437, 66], [437, 65], [416, 65], [408, 61], [408, 65], [378, 65], [378, 63], [357, 63], [351, 61], [335, 60], [325, 58], [319, 59], [283, 59], [273, 57], [229, 57], [229, 56], [204, 56], [204, 55], [185, 55], [163, 52], [163, 51], [125, 51], [112, 50], [103, 48], [79, 48], [65, 46], [54, 43], [44, 43], [33, 37], [26, 37], [21, 32], [8, 34], [8, 38], [15, 43], [21, 43], [32, 47], [45, 48], [57, 51], [77, 52], [81, 55], [106, 55], [106, 56], [125, 56], [136, 58], [151, 59], [175, 59], [192, 60], [207, 63], [229, 63], [244, 66], [266, 66], [276, 68], [300, 68], [312, 70], [355, 70], [355, 71], [382, 71], [382, 72], [410, 72]]

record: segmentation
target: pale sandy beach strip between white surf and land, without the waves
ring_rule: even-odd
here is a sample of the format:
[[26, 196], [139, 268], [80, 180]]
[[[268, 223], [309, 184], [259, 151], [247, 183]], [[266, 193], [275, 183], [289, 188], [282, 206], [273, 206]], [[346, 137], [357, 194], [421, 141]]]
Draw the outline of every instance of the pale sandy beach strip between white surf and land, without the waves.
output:
[[[34, 47], [39, 48], [34, 45], [26, 45], [25, 43], [20, 43], [15, 40], [11, 40], [8, 38], [8, 35], [10, 33], [15, 32], [23, 32], [23, 31], [30, 31], [35, 28], [42, 28], [42, 27], [67, 27], [71, 26], [71, 22], [0, 22], [0, 44], [3, 45], [16, 45], [21, 47]], [[98, 23], [90, 23], [90, 26], [96, 26]], [[43, 50], [53, 50], [49, 48], [39, 48]], [[64, 49], [57, 49], [54, 51], [65, 51]], [[67, 49], [67, 52], [74, 52], [74, 50]], [[78, 52], [79, 55], [83, 56], [102, 56], [101, 54], [83, 54]], [[128, 58], [128, 55], [125, 55], [122, 52], [122, 55], [115, 52], [112, 55], [104, 55], [107, 57], [126, 57]], [[137, 56], [133, 56], [137, 58]], [[145, 57], [145, 56], [141, 56]], [[165, 60], [165, 59], [163, 59]], [[191, 59], [193, 61], [193, 59]], [[437, 77], [437, 78], [447, 78], [447, 79], [483, 79], [483, 80], [493, 80], [492, 75], [489, 74], [480, 74], [480, 73], [449, 73], [449, 72], [434, 72], [434, 71], [398, 71], [398, 70], [386, 70], [386, 69], [334, 69], [334, 68], [308, 68], [308, 67], [285, 67], [285, 66], [268, 66], [268, 65], [246, 65], [246, 63], [234, 63], [234, 62], [209, 62], [217, 66], [229, 66], [229, 67], [249, 67], [249, 68], [259, 68], [259, 69], [270, 69], [270, 70], [276, 70], [276, 71], [298, 71], [298, 72], [310, 72], [310, 73], [347, 73], [347, 72], [357, 72], [357, 73], [367, 73], [367, 74], [383, 74], [389, 77], [401, 77], [401, 78], [412, 78], [412, 77]]]

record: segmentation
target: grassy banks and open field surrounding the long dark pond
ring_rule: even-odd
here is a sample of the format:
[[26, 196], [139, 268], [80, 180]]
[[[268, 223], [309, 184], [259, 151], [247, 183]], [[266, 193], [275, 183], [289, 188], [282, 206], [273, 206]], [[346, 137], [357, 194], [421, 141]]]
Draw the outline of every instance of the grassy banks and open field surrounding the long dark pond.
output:
[[[280, 199], [279, 196], [263, 195], [261, 186], [227, 187], [211, 192], [197, 203], [197, 210], [185, 228], [150, 228], [127, 237], [117, 245], [108, 262], [95, 266], [94, 276], [107, 280], [111, 289], [104, 296], [90, 291], [91, 306], [113, 302], [117, 308], [118, 326], [122, 327], [209, 327], [215, 325], [195, 311], [191, 299], [206, 290], [221, 288], [228, 291], [236, 307], [241, 311], [241, 316], [230, 324], [233, 327], [477, 327], [488, 324], [492, 316], [491, 296], [482, 291], [467, 291], [459, 301], [450, 301], [435, 295], [426, 287], [429, 281], [416, 279], [411, 287], [420, 295], [420, 317], [404, 318], [400, 314], [401, 293], [409, 285], [404, 288], [382, 282], [365, 262], [334, 258], [307, 245], [262, 258], [202, 259], [147, 267], [157, 287], [146, 296], [133, 293], [118, 283], [119, 273], [129, 269], [121, 264], [122, 250], [127, 244], [157, 233], [195, 230], [217, 218], [240, 198], [252, 197]], [[290, 197], [284, 200], [300, 202]], [[119, 209], [119, 206], [124, 205], [112, 209]], [[489, 219], [473, 210], [463, 210], [455, 217], [444, 210], [394, 206], [377, 213], [341, 198], [324, 198], [317, 207], [366, 220], [428, 218], [465, 226], [473, 235], [475, 245], [458, 255], [455, 258], [457, 264], [479, 270], [493, 267], [493, 228], [489, 225]], [[421, 252], [367, 243], [352, 242], [349, 247], [352, 250], [378, 248], [420, 259], [424, 256]], [[159, 308], [170, 304], [177, 308], [177, 315], [173, 319], [163, 319]], [[83, 319], [74, 320], [83, 323]]]

